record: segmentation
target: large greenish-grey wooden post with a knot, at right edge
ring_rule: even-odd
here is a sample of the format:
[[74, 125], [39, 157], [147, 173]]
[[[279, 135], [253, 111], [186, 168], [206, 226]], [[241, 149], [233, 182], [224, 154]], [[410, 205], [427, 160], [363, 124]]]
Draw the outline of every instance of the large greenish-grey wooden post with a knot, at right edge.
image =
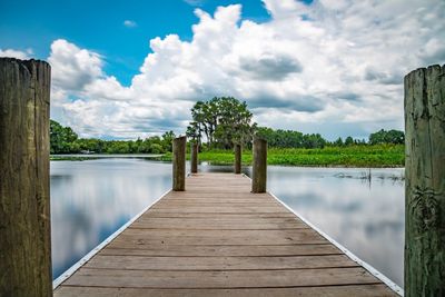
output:
[[445, 66], [405, 77], [405, 296], [445, 296]]

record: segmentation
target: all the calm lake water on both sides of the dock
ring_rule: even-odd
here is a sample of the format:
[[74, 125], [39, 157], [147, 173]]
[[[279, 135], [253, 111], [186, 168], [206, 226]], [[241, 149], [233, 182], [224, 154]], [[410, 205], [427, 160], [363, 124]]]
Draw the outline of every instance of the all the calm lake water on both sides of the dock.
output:
[[[200, 171], [231, 171], [201, 165]], [[244, 168], [250, 175], [250, 168]], [[404, 169], [268, 167], [268, 190], [403, 286]], [[53, 278], [171, 188], [171, 164], [51, 161]]]

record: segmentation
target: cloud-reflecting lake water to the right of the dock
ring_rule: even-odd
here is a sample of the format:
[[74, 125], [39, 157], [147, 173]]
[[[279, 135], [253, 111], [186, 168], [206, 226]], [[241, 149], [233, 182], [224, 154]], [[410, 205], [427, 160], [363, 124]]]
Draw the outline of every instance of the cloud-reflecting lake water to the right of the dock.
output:
[[268, 190], [403, 287], [404, 169], [367, 170], [270, 166]]

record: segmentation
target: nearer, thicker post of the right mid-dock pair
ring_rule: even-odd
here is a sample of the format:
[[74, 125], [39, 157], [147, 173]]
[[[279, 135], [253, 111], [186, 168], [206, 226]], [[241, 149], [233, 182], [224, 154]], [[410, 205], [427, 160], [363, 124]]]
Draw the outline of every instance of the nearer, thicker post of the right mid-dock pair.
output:
[[254, 140], [253, 192], [265, 192], [267, 182], [267, 141]]

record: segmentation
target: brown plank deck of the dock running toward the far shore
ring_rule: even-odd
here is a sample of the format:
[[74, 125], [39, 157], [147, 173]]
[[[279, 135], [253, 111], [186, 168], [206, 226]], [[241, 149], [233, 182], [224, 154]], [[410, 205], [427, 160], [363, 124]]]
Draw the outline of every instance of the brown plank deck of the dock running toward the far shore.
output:
[[269, 194], [249, 190], [239, 175], [192, 175], [56, 296], [395, 296]]

